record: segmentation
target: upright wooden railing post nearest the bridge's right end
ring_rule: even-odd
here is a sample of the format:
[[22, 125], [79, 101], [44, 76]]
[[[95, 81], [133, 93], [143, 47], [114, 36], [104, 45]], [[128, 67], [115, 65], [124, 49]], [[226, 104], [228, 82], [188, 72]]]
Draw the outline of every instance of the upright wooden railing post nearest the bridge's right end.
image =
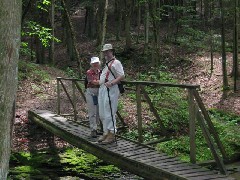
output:
[[188, 89], [188, 110], [189, 110], [189, 137], [190, 137], [190, 162], [196, 163], [196, 105], [194, 102], [193, 90]]

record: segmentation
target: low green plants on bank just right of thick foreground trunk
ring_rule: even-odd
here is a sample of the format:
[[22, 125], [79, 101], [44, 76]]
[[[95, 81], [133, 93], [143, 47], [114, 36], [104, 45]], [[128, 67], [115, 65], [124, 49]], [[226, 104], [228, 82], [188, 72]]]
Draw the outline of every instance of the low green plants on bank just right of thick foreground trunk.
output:
[[26, 61], [19, 61], [18, 79], [20, 81], [31, 79], [34, 82], [50, 82], [49, 74], [46, 71], [41, 70], [39, 65]]

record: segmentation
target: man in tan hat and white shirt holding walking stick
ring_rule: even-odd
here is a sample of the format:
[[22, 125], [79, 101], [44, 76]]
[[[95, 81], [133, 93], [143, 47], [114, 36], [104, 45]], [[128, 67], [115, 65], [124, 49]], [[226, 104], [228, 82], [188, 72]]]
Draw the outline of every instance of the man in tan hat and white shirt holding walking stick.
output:
[[106, 66], [102, 70], [99, 80], [99, 116], [103, 124], [103, 136], [98, 142], [109, 144], [115, 141], [116, 112], [120, 92], [118, 83], [124, 79], [123, 66], [114, 56], [112, 44], [105, 44], [102, 52], [106, 59]]

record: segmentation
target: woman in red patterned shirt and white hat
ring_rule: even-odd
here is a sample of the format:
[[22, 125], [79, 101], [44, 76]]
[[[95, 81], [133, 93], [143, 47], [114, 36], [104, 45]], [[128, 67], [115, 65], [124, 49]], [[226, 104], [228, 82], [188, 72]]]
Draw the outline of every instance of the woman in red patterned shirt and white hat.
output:
[[91, 137], [97, 137], [97, 125], [99, 122], [98, 110], [98, 91], [99, 85], [95, 83], [99, 81], [101, 70], [100, 61], [98, 57], [92, 57], [90, 62], [91, 68], [87, 71], [86, 84], [86, 101], [89, 116], [89, 125], [91, 129]]

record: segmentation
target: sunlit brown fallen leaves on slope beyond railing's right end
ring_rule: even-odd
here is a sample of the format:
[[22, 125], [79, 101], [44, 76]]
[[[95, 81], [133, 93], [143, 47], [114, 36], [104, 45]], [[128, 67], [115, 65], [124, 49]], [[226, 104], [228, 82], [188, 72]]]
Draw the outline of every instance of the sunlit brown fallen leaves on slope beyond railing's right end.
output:
[[[227, 55], [227, 73], [232, 71], [232, 54]], [[216, 54], [213, 59], [211, 71], [211, 59], [208, 54], [192, 57], [190, 66], [175, 69], [178, 79], [182, 83], [200, 85], [200, 95], [207, 108], [219, 108], [225, 111], [240, 114], [240, 91], [233, 92], [233, 78], [228, 76], [230, 90], [224, 98], [222, 90], [222, 58]], [[240, 90], [240, 81], [238, 80]]]

